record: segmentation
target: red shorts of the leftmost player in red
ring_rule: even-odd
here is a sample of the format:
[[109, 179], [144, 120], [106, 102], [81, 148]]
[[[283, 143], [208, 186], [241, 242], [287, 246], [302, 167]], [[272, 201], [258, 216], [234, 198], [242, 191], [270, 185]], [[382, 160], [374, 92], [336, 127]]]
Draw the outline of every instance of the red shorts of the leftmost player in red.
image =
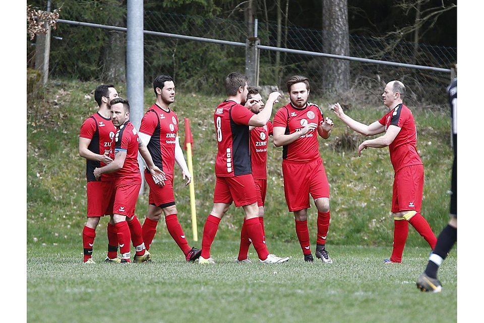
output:
[[114, 181], [87, 182], [87, 217], [112, 214]]

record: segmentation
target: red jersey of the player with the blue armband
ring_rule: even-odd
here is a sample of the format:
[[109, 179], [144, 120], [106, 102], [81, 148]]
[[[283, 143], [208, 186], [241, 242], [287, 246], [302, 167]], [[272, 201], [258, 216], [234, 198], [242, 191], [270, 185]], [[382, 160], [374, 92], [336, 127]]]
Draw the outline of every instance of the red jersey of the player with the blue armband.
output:
[[141, 183], [140, 165], [138, 164], [139, 140], [135, 126], [129, 121], [121, 125], [114, 135], [114, 152], [126, 152], [123, 168], [114, 173], [118, 182]]

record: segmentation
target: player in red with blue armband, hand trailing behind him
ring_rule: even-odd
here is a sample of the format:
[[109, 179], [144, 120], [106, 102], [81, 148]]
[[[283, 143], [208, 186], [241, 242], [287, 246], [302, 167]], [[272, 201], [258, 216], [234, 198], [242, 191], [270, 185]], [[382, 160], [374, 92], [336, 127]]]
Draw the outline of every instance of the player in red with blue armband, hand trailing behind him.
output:
[[[153, 164], [148, 149], [139, 140], [135, 127], [129, 121], [128, 100], [118, 97], [113, 99], [110, 104], [112, 124], [117, 129], [112, 141], [114, 158], [108, 165], [94, 169], [94, 176], [100, 178], [103, 174], [114, 173], [113, 221], [121, 252], [121, 263], [131, 262], [131, 240], [136, 249], [134, 261], [149, 261], [150, 254], [143, 243], [141, 225], [134, 215], [141, 189], [138, 151], [156, 180], [163, 183], [164, 177], [163, 173]], [[131, 226], [135, 226], [135, 228], [130, 228]], [[134, 233], [133, 236], [131, 232]]]

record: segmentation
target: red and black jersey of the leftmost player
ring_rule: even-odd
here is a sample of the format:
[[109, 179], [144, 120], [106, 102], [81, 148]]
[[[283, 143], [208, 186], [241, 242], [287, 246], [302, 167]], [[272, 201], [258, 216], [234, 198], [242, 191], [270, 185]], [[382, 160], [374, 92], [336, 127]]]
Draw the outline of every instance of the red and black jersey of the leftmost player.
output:
[[[103, 155], [106, 151], [112, 154], [111, 142], [114, 138], [116, 128], [113, 126], [111, 119], [106, 119], [99, 113], [95, 113], [82, 123], [79, 137], [90, 139], [91, 142], [87, 147], [94, 153]], [[101, 161], [90, 160], [86, 158], [86, 178], [88, 182], [96, 181], [94, 169], [105, 166]], [[113, 174], [102, 174], [101, 181], [114, 180]]]

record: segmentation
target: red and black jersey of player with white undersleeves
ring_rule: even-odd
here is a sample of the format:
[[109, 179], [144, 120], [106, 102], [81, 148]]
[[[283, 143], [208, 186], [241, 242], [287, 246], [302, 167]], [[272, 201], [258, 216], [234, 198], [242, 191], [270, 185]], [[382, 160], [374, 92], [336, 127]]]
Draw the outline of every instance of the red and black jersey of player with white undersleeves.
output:
[[171, 109], [164, 111], [155, 103], [141, 120], [140, 132], [151, 136], [147, 148], [153, 163], [166, 174], [173, 174], [178, 133], [176, 114]]

